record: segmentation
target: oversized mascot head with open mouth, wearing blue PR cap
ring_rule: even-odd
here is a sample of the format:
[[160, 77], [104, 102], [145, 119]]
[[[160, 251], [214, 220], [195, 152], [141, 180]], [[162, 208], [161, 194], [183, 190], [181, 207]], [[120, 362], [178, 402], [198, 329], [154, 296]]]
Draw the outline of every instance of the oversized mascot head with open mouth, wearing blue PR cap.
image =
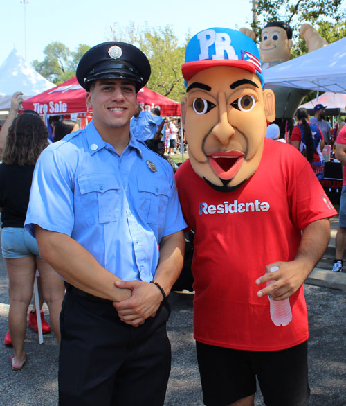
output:
[[203, 30], [190, 39], [181, 70], [192, 168], [217, 191], [232, 191], [255, 173], [267, 123], [275, 118], [273, 91], [262, 90], [257, 46], [237, 30]]

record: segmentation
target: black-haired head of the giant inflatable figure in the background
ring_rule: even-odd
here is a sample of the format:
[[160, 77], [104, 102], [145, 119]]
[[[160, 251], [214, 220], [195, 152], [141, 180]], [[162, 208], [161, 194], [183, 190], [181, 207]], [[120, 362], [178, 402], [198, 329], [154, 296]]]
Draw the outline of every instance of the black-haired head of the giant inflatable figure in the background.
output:
[[285, 62], [292, 48], [292, 28], [283, 21], [272, 21], [262, 29], [260, 56], [263, 62]]

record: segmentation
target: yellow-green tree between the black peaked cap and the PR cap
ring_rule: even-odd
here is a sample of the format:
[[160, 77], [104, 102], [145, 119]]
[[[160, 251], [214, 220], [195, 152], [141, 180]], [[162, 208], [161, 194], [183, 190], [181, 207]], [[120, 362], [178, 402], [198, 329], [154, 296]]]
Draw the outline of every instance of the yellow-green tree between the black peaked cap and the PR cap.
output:
[[171, 26], [140, 29], [133, 23], [125, 29], [118, 24], [111, 27], [111, 39], [125, 41], [140, 48], [150, 61], [152, 75], [147, 87], [163, 96], [180, 101], [185, 94], [181, 64], [184, 62], [185, 46], [179, 46]]

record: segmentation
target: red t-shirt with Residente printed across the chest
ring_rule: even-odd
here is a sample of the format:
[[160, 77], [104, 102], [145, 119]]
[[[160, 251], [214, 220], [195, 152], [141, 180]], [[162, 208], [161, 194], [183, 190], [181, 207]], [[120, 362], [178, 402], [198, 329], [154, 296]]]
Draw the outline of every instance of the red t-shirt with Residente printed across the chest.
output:
[[266, 139], [260, 166], [237, 190], [215, 191], [185, 161], [176, 173], [183, 215], [195, 229], [194, 338], [226, 348], [276, 351], [308, 338], [303, 287], [290, 298], [293, 320], [277, 327], [256, 285], [266, 265], [291, 261], [301, 230], [336, 215], [307, 159]]

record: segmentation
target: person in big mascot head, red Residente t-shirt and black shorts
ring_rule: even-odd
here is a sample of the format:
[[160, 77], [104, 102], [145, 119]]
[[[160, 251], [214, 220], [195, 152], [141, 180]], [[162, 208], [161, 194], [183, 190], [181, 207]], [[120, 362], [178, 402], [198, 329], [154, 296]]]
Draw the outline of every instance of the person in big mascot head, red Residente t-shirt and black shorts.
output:
[[[176, 186], [195, 231], [194, 338], [204, 403], [253, 405], [257, 376], [266, 405], [304, 405], [303, 283], [327, 247], [336, 211], [307, 159], [265, 139], [275, 100], [263, 90], [250, 37], [201, 31], [188, 43], [182, 72], [189, 159]], [[276, 303], [289, 298], [289, 324], [273, 323], [268, 295]]]

